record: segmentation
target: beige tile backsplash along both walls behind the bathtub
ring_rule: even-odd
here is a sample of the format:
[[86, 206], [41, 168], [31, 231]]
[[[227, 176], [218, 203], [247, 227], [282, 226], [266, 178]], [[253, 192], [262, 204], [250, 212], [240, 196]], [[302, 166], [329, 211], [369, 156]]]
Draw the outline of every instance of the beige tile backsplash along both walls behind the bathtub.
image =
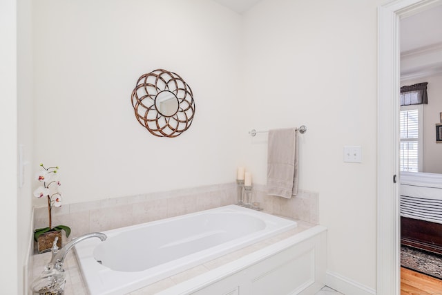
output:
[[[191, 189], [147, 193], [93, 202], [64, 204], [52, 211], [53, 225], [72, 229], [64, 242], [93, 231], [106, 231], [128, 225], [179, 216], [205, 209], [236, 204], [236, 182]], [[265, 212], [318, 224], [318, 193], [298, 191], [291, 199], [267, 196], [265, 186], [253, 186], [252, 201]], [[35, 208], [35, 228], [47, 227], [47, 207]]]

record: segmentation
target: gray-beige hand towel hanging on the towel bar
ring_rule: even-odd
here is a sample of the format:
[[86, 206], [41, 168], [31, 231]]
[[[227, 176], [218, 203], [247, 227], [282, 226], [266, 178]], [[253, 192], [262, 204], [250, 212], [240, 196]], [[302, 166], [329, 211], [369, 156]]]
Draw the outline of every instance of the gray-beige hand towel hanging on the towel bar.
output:
[[298, 193], [298, 148], [296, 129], [269, 131], [267, 193], [291, 198]]

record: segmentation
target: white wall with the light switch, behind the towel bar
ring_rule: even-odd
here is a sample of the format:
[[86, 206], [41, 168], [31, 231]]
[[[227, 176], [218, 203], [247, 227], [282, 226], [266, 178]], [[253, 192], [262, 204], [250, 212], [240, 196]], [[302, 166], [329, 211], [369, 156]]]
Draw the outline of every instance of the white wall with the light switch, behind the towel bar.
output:
[[[263, 0], [244, 18], [248, 129], [307, 126], [300, 189], [318, 191], [327, 271], [376, 289], [376, 7], [381, 1]], [[343, 146], [362, 146], [361, 164]], [[266, 182], [267, 135], [244, 140]]]

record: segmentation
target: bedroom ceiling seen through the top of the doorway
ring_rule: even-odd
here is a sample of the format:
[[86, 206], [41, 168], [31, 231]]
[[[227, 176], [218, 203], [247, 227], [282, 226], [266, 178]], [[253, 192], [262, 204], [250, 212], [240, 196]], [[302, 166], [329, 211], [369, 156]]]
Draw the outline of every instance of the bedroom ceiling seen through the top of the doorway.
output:
[[401, 20], [401, 52], [442, 43], [442, 5]]

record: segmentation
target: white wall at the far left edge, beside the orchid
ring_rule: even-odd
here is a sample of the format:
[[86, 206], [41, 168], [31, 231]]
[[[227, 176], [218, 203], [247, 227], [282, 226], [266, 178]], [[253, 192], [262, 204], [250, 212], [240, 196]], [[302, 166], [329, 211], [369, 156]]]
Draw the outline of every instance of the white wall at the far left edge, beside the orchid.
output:
[[30, 0], [0, 3], [0, 134], [2, 206], [0, 285], [4, 294], [26, 294], [31, 238], [30, 169], [19, 180], [18, 151], [30, 162], [32, 151], [32, 44]]

